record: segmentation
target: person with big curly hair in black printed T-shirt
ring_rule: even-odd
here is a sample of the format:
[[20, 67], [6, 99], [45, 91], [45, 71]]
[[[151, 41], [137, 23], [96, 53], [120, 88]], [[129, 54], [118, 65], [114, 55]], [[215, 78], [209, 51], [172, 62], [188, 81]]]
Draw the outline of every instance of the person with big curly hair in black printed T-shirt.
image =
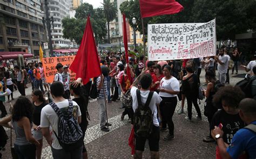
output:
[[[215, 93], [213, 104], [218, 108], [222, 107], [222, 109], [216, 112], [212, 118], [211, 132], [213, 139], [215, 139], [215, 135], [213, 135], [214, 126], [222, 127], [224, 132], [222, 138], [226, 144], [230, 144], [234, 134], [245, 126], [238, 113], [238, 105], [244, 98], [245, 94], [238, 86], [223, 86]], [[216, 147], [216, 156], [219, 156], [218, 146]]]

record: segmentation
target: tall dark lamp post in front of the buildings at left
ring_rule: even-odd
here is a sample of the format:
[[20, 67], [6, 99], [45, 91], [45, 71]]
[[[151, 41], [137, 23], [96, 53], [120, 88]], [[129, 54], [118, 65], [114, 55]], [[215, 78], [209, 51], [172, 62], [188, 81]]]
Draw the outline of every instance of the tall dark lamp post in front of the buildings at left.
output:
[[46, 18], [43, 17], [43, 12], [42, 12], [42, 17], [43, 17], [43, 24], [45, 24], [46, 22], [46, 27], [47, 27], [47, 31], [48, 31], [48, 38], [49, 38], [49, 49], [50, 49], [50, 55], [53, 56], [53, 49], [52, 49], [52, 40], [51, 40], [51, 23], [52, 23], [52, 29], [54, 30], [53, 27], [53, 17], [51, 16], [51, 18], [49, 17], [49, 11], [48, 11], [48, 2], [47, 0], [45, 0], [45, 15]]

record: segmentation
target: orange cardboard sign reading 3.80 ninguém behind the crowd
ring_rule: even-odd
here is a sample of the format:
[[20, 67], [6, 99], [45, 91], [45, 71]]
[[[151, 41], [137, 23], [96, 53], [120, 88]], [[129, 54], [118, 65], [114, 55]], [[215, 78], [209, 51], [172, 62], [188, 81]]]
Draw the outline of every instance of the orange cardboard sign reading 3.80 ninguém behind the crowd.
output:
[[[73, 62], [75, 59], [75, 56], [60, 56], [60, 57], [47, 57], [43, 58], [43, 67], [44, 67], [44, 75], [46, 78], [46, 81], [48, 83], [52, 83], [55, 74], [57, 73], [57, 69], [55, 68], [57, 63], [62, 63], [62, 65], [69, 65]], [[73, 73], [69, 69], [70, 73], [70, 82], [75, 81], [76, 74]]]

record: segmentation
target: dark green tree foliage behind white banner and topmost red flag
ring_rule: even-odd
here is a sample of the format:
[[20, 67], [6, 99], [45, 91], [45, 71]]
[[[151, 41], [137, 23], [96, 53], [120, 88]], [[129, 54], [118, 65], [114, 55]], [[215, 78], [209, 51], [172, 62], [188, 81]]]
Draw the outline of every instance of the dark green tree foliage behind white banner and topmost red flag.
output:
[[[184, 10], [175, 15], [144, 18], [147, 24], [156, 23], [203, 23], [216, 18], [217, 39], [235, 39], [235, 34], [256, 29], [256, 1], [254, 0], [177, 0]], [[123, 2], [120, 11], [125, 13], [132, 25], [132, 18], [138, 19], [138, 31], [142, 33], [139, 0]]]

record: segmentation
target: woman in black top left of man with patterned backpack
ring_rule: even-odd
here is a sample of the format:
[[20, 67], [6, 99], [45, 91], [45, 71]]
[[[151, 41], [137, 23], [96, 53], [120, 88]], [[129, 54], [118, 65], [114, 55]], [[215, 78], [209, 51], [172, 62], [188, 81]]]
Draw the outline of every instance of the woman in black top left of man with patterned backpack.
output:
[[45, 102], [43, 92], [40, 90], [33, 91], [31, 93], [31, 99], [32, 99], [32, 104], [34, 106], [32, 134], [34, 138], [40, 143], [36, 147], [36, 156], [37, 158], [41, 158], [42, 147], [43, 147], [43, 134], [40, 127], [41, 111], [43, 107], [47, 104]]

